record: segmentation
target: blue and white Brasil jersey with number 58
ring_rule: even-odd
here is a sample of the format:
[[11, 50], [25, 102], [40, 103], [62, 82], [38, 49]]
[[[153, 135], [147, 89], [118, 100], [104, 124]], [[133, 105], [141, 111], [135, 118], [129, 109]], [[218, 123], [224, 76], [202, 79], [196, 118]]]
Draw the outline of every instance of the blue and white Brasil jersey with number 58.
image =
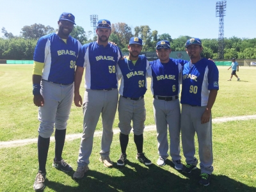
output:
[[116, 63], [122, 58], [119, 47], [108, 44], [106, 47], [92, 42], [82, 47], [77, 65], [85, 67], [86, 89], [102, 90], [118, 87]]

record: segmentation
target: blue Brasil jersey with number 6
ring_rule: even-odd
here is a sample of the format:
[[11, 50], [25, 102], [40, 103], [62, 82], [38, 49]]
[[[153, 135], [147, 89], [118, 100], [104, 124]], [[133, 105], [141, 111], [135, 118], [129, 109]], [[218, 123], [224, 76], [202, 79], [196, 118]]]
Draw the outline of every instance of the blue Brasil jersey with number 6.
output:
[[187, 62], [173, 58], [170, 58], [168, 63], [161, 63], [160, 60], [150, 61], [152, 94], [165, 97], [179, 95], [182, 65]]

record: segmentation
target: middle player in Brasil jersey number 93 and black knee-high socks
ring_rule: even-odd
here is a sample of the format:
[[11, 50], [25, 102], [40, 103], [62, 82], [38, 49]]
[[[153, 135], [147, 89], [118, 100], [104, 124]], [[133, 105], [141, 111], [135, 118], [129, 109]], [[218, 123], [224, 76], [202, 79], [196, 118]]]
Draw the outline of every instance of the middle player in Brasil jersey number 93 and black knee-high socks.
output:
[[129, 56], [124, 60], [119, 60], [117, 67], [118, 79], [121, 79], [118, 127], [120, 128], [119, 140], [122, 153], [116, 163], [120, 166], [125, 164], [129, 134], [133, 128], [134, 143], [137, 148], [136, 159], [148, 165], [152, 163], [143, 153], [143, 130], [146, 120], [144, 94], [147, 91], [149, 63], [145, 56], [139, 55], [142, 49], [141, 38], [132, 37], [128, 49]]

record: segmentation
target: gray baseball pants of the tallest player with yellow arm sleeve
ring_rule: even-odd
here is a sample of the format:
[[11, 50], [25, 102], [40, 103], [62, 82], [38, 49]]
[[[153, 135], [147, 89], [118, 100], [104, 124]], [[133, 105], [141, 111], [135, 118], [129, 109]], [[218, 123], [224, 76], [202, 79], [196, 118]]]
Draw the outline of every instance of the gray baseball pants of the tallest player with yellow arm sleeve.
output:
[[41, 95], [44, 106], [38, 108], [40, 125], [38, 133], [42, 138], [49, 138], [55, 128], [67, 128], [67, 120], [74, 98], [74, 83], [69, 85], [41, 81]]

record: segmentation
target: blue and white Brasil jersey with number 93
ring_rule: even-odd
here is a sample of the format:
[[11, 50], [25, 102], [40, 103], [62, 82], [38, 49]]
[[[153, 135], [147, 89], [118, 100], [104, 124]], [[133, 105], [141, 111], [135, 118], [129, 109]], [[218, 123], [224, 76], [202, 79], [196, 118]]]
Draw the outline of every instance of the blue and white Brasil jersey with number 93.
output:
[[146, 93], [149, 62], [145, 56], [139, 56], [135, 65], [127, 58], [119, 60], [117, 68], [118, 79], [121, 79], [120, 95], [138, 98]]

